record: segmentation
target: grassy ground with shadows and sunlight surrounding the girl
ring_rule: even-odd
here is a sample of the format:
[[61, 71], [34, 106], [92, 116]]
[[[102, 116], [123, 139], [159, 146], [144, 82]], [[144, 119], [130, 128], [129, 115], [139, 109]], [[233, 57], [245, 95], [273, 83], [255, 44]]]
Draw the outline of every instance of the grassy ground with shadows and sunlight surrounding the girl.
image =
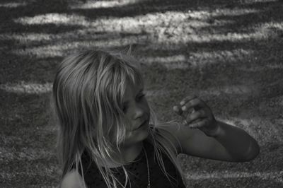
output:
[[249, 163], [179, 155], [187, 187], [283, 187], [283, 4], [241, 1], [0, 2], [0, 187], [55, 187], [49, 97], [66, 54], [132, 44], [164, 121], [190, 93], [248, 131]]

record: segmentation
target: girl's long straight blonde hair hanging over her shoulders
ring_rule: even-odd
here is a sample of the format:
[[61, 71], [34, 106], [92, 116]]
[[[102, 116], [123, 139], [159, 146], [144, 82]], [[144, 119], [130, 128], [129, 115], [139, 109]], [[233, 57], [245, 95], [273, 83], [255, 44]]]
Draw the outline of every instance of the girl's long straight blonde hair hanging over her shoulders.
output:
[[[83, 177], [81, 154], [87, 151], [108, 187], [117, 187], [117, 184], [126, 187], [130, 182], [125, 164], [121, 164], [126, 177], [125, 185], [122, 185], [107, 168], [105, 160], [111, 158], [110, 153], [120, 152], [120, 145], [125, 141], [129, 121], [122, 111], [122, 102], [128, 81], [143, 84], [141, 67], [129, 52], [87, 50], [71, 54], [59, 64], [53, 83], [52, 105], [59, 124], [57, 150], [62, 165], [61, 179], [72, 168], [80, 169]], [[178, 123], [160, 123], [151, 105], [149, 109], [149, 137], [158, 165], [168, 177], [161, 155], [166, 153], [183, 175], [175, 157], [177, 150], [163, 134], [166, 126]], [[102, 162], [103, 168], [98, 161], [100, 165]]]

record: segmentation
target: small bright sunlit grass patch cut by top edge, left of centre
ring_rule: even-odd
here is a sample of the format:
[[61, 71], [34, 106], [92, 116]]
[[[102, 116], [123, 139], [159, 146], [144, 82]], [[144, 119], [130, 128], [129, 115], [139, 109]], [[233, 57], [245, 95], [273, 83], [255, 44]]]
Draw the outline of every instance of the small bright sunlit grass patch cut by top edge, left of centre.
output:
[[91, 8], [110, 8], [117, 6], [125, 6], [134, 4], [134, 0], [120, 0], [120, 1], [87, 1], [84, 4], [70, 6], [71, 9], [91, 9]]

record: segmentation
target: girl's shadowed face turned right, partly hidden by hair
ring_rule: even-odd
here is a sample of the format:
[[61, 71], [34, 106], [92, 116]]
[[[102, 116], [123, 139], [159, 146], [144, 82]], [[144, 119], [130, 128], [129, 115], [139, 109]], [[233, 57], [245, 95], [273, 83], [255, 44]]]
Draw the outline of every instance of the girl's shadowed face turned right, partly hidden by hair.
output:
[[149, 105], [143, 93], [143, 86], [129, 84], [126, 88], [123, 112], [131, 123], [127, 127], [125, 145], [143, 141], [149, 135]]

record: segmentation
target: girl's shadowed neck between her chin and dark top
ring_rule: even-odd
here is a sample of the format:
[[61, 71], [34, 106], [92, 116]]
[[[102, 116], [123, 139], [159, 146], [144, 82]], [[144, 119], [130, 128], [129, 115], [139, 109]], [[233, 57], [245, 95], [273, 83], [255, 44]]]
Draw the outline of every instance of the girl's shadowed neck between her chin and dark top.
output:
[[[137, 156], [139, 155], [139, 153], [142, 152], [142, 148], [143, 148], [143, 142], [139, 142], [134, 144], [133, 146], [127, 146], [125, 148], [121, 148], [121, 152], [122, 155], [121, 156], [113, 156], [113, 158], [115, 158], [116, 161], [118, 161], [119, 163], [131, 163], [132, 161], [134, 161]], [[120, 167], [121, 165], [119, 163], [115, 163], [114, 161], [108, 160], [108, 168], [117, 168]]]

